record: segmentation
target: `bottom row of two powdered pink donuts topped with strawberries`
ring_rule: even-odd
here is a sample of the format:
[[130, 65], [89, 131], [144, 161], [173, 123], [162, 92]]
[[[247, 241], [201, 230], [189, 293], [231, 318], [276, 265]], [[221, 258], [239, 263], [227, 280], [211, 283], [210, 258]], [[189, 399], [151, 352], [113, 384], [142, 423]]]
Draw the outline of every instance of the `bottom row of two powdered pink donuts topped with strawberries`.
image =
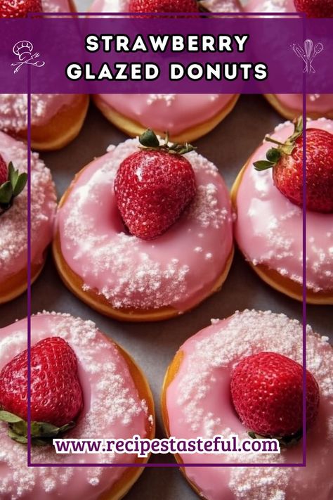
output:
[[[27, 467], [27, 320], [21, 320], [0, 329], [1, 500], [121, 499], [143, 470], [133, 464], [149, 459], [138, 456], [138, 438], [154, 442], [155, 437], [154, 402], [143, 372], [92, 321], [43, 312], [31, 322], [31, 461], [45, 466]], [[186, 464], [182, 470], [192, 488], [207, 500], [303, 500], [314, 495], [330, 500], [333, 351], [328, 339], [308, 327], [307, 466], [285, 468], [302, 463], [301, 324], [284, 314], [254, 310], [211, 323], [180, 347], [162, 387], [164, 430], [183, 443], [175, 456]], [[221, 442], [221, 437], [234, 435], [240, 442], [278, 437], [281, 452], [245, 453], [229, 444], [224, 449], [229, 454], [221, 448], [209, 453], [216, 437]], [[51, 446], [51, 437], [74, 442], [133, 436], [134, 447], [107, 448], [107, 454], [103, 449], [56, 454]], [[198, 437], [202, 443], [211, 440], [210, 448], [202, 444], [201, 450], [188, 453], [185, 440], [193, 446]], [[105, 468], [122, 463], [132, 467]], [[192, 467], [198, 463], [227, 468]], [[244, 463], [259, 466], [241, 467]], [[272, 468], [274, 463], [278, 466]]]

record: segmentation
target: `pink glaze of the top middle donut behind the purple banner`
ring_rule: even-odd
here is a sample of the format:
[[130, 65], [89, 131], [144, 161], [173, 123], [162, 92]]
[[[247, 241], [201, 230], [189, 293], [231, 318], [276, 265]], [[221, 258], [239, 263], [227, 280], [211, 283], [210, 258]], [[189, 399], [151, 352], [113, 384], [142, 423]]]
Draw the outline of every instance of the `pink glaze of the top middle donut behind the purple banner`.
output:
[[[240, 11], [234, 0], [203, 2], [211, 11]], [[128, 12], [128, 0], [95, 0], [91, 12]], [[214, 118], [234, 94], [99, 94], [103, 103], [126, 118], [170, 134], [181, 134]]]

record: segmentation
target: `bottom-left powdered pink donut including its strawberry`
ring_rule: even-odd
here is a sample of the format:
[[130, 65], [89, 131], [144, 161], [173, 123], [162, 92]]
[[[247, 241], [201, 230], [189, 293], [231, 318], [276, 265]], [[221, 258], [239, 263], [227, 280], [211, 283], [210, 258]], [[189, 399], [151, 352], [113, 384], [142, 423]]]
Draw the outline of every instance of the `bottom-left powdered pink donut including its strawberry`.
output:
[[[1, 500], [121, 499], [149, 455], [138, 456], [133, 447], [115, 449], [115, 441], [155, 436], [145, 375], [92, 321], [44, 312], [31, 317], [31, 331], [31, 461], [46, 465], [27, 466], [27, 319], [22, 319], [0, 328]], [[78, 445], [56, 453], [53, 439], [60, 450], [66, 439], [65, 447], [81, 441], [95, 452]], [[129, 466], [119, 466], [123, 463]]]

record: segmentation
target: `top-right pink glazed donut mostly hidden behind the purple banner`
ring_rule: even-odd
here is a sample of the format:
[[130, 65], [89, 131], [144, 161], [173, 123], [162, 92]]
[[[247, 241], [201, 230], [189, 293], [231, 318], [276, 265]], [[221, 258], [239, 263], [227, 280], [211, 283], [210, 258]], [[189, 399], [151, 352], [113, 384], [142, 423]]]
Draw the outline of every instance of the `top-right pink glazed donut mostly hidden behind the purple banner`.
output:
[[[245, 12], [296, 12], [293, 0], [249, 0], [244, 6]], [[266, 94], [273, 108], [288, 120], [301, 115], [303, 97], [301, 94]], [[311, 118], [325, 116], [333, 118], [332, 94], [308, 94], [306, 114]]]

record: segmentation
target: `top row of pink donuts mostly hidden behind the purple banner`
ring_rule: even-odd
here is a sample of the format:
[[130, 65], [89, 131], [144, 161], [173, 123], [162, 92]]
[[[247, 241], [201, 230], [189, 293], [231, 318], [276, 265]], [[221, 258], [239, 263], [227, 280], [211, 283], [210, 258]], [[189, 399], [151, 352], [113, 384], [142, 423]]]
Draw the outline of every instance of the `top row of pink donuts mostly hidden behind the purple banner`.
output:
[[[131, 2], [127, 0], [96, 0], [91, 5], [90, 11], [127, 12], [131, 8], [130, 4]], [[205, 8], [215, 12], [295, 11], [294, 3], [290, 0], [255, 0], [244, 7], [234, 0], [205, 0], [203, 4]], [[140, 5], [143, 8], [142, 2]], [[74, 10], [72, 2], [67, 0], [42, 0], [41, 7], [45, 12]], [[237, 98], [238, 96], [233, 94], [99, 94], [93, 96], [93, 101], [107, 120], [129, 136], [137, 136], [149, 127], [159, 134], [167, 129], [174, 141], [194, 141], [216, 127], [233, 109]], [[266, 98], [288, 120], [294, 119], [301, 113], [301, 95], [268, 94]], [[34, 94], [32, 148], [36, 150], [63, 148], [79, 134], [88, 105], [89, 96]], [[308, 116], [314, 119], [322, 116], [332, 118], [332, 95], [309, 94], [307, 112]], [[26, 96], [0, 95], [0, 130], [21, 139], [26, 138]]]

